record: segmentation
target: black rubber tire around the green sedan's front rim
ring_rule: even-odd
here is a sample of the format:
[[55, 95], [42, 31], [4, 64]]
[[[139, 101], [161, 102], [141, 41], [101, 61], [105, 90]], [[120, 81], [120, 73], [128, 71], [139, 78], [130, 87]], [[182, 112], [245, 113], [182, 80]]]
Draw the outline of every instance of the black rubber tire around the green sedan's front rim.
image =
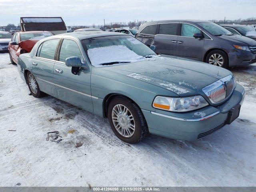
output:
[[[114, 126], [114, 122], [112, 121], [112, 110], [118, 104], [121, 104], [121, 105], [125, 106], [126, 108], [128, 108], [128, 110], [130, 110], [130, 113], [132, 114], [133, 119], [134, 119], [133, 120], [133, 122], [135, 124], [134, 133], [132, 136], [130, 136], [128, 138], [122, 136], [118, 132], [118, 130]], [[108, 120], [109, 120], [110, 126], [111, 126], [114, 134], [120, 140], [122, 140], [126, 143], [134, 144], [134, 143], [140, 142], [149, 134], [148, 125], [147, 125], [146, 119], [144, 118], [144, 115], [142, 114], [142, 111], [134, 102], [128, 100], [124, 96], [116, 96], [115, 98], [113, 98], [111, 100], [110, 104], [108, 105]]]

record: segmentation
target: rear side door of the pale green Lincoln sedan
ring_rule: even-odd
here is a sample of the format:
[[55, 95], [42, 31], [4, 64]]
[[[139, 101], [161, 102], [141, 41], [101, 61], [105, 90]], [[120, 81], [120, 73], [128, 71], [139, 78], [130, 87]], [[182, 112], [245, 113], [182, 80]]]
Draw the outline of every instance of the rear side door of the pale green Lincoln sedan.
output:
[[53, 84], [53, 67], [55, 63], [56, 48], [60, 39], [51, 39], [43, 42], [32, 59], [30, 69], [42, 92], [57, 97]]

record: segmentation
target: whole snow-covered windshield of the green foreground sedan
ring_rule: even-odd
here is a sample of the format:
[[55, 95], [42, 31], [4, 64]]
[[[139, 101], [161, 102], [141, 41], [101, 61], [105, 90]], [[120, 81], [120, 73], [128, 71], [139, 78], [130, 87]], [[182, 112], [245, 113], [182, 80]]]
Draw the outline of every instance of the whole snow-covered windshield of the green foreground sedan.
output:
[[82, 40], [93, 66], [136, 62], [157, 54], [132, 36], [116, 35]]

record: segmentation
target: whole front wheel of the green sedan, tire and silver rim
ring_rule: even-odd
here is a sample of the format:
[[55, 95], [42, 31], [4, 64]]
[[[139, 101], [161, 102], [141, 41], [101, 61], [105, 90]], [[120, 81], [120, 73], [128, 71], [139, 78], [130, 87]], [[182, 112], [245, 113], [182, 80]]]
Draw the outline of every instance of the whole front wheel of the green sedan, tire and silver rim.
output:
[[140, 108], [124, 96], [113, 98], [108, 106], [108, 120], [116, 136], [134, 144], [148, 134], [148, 126]]

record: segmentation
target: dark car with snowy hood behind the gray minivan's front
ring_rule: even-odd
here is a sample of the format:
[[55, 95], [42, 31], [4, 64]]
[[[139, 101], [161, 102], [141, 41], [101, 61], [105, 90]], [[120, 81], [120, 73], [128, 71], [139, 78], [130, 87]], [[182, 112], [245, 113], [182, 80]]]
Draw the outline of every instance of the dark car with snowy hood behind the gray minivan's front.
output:
[[221, 25], [222, 27], [226, 28], [230, 32], [242, 36], [249, 37], [253, 40], [256, 40], [256, 31], [254, 28], [250, 28], [246, 25]]

